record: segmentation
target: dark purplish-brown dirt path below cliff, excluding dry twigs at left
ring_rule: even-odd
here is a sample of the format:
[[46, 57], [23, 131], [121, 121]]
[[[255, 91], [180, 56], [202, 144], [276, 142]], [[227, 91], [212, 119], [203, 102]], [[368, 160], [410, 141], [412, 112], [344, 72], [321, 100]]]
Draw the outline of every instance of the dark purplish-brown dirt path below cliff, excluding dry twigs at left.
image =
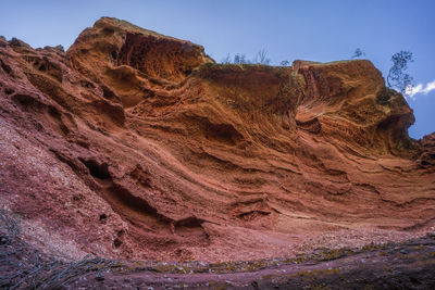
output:
[[362, 250], [318, 250], [291, 260], [229, 263], [129, 262], [88, 275], [70, 289], [430, 289], [435, 236]]

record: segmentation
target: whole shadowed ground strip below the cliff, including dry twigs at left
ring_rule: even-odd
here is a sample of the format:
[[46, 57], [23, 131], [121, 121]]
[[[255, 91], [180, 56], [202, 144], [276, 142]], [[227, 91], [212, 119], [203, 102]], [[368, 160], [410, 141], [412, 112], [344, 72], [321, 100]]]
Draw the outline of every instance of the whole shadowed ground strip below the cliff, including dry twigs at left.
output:
[[7, 289], [431, 289], [435, 234], [361, 248], [319, 248], [247, 262], [65, 261], [22, 239], [0, 213], [0, 287]]

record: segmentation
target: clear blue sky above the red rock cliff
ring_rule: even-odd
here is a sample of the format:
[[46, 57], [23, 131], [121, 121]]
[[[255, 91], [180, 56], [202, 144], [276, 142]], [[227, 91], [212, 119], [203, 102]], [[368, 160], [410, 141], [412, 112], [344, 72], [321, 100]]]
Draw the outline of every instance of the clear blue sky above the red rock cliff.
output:
[[386, 75], [390, 56], [409, 50], [409, 73], [421, 84], [408, 98], [417, 118], [409, 133], [435, 131], [435, 84], [427, 86], [435, 80], [434, 0], [2, 0], [0, 8], [0, 35], [33, 47], [67, 48], [99, 17], [113, 16], [202, 45], [216, 61], [265, 49], [272, 64], [328, 62], [361, 48]]

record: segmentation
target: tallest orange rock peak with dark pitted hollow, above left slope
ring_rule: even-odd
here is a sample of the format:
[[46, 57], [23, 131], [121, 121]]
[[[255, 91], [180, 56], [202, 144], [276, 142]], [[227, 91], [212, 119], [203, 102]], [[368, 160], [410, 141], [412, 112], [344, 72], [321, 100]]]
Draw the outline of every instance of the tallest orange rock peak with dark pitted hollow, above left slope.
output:
[[97, 74], [127, 65], [144, 77], [166, 81], [179, 81], [202, 63], [214, 62], [201, 46], [111, 17], [85, 29], [67, 55], [75, 67], [87, 73], [95, 71], [88, 65], [96, 62]]

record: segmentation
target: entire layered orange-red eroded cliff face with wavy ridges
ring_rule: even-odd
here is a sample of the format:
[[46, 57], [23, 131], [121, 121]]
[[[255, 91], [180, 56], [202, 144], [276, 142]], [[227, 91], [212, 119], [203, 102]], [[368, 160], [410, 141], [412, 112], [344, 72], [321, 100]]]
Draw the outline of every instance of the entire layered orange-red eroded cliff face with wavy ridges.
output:
[[0, 203], [47, 251], [249, 260], [435, 224], [435, 135], [369, 61], [221, 65], [103, 17], [66, 53], [0, 39]]

